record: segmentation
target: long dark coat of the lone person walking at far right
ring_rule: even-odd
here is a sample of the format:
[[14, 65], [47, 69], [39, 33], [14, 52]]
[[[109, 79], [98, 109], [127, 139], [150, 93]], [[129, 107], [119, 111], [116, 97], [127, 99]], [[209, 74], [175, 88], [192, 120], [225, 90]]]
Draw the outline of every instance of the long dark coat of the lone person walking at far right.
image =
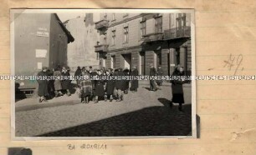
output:
[[[174, 71], [172, 76], [183, 76], [184, 74], [178, 71]], [[172, 102], [184, 103], [183, 87], [181, 79], [172, 80]]]

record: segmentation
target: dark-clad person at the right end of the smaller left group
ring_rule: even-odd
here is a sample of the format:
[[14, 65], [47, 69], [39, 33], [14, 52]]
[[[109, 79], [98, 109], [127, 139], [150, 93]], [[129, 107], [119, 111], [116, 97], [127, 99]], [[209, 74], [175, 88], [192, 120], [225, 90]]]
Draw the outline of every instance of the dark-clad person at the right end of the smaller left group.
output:
[[66, 95], [70, 96], [70, 88], [71, 88], [71, 81], [69, 79], [70, 76], [70, 68], [69, 67], [63, 67], [62, 68], [62, 75], [64, 76], [64, 80], [62, 81], [62, 88], [66, 91]]

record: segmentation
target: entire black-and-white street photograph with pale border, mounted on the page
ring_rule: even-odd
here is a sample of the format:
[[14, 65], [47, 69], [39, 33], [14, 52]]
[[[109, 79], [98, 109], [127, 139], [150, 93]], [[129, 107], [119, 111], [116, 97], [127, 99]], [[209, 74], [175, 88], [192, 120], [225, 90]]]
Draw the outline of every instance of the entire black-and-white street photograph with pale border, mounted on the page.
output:
[[197, 138], [193, 9], [11, 16], [14, 139]]

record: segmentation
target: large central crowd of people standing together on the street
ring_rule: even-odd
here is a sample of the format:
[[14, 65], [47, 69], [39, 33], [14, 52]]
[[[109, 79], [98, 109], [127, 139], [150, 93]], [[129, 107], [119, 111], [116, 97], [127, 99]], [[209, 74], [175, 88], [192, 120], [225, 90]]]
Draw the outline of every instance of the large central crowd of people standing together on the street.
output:
[[[104, 80], [100, 76], [138, 76], [139, 72], [136, 67], [132, 67], [131, 71], [128, 68], [122, 69], [92, 69], [86, 70], [85, 67], [78, 67], [74, 73], [75, 77], [83, 77], [82, 80], [77, 80], [77, 85], [80, 89], [81, 102], [89, 103], [90, 100], [95, 103], [99, 102], [101, 98], [110, 102], [113, 99], [116, 102], [124, 100], [124, 94], [129, 92], [137, 92], [139, 82], [137, 80]], [[91, 80], [89, 77], [99, 77], [100, 80]], [[130, 83], [131, 82], [131, 87]]]

